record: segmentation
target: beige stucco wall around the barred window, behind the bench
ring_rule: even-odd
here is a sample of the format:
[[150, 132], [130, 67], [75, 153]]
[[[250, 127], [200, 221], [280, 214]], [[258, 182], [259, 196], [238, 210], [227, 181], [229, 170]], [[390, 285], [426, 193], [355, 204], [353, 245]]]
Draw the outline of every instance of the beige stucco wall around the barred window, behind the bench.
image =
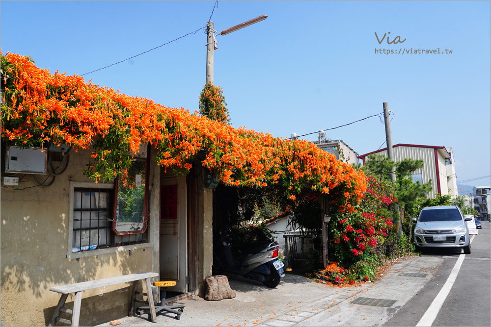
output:
[[[69, 181], [93, 182], [82, 174], [90, 154], [89, 150], [72, 151], [69, 167], [50, 187], [14, 190], [37, 185], [32, 177], [18, 186], [1, 187], [0, 291], [1, 323], [5, 326], [47, 326], [60, 298], [49, 290], [52, 286], [155, 271], [158, 266], [153, 259], [158, 255], [158, 237], [153, 233], [149, 233], [153, 243], [147, 248], [133, 248], [131, 254], [129, 246], [112, 249], [112, 253], [67, 259]], [[151, 176], [158, 181], [160, 176], [155, 175], [159, 174], [152, 175], [151, 170]], [[41, 175], [38, 179], [45, 178]], [[151, 194], [150, 199], [150, 206], [158, 208], [152, 204], [152, 199], [158, 200], [158, 196]], [[158, 212], [153, 216], [158, 217]], [[149, 228], [155, 228], [152, 224], [158, 226], [158, 219], [151, 219], [150, 224]], [[84, 291], [80, 325], [93, 326], [126, 316], [129, 286], [119, 284]], [[66, 307], [72, 305], [70, 302], [73, 296], [68, 298]]]

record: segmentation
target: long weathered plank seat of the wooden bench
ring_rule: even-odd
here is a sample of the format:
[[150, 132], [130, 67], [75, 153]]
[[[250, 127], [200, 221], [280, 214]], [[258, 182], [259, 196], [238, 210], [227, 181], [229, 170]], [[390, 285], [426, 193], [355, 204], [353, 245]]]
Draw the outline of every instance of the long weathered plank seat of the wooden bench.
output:
[[146, 279], [146, 278], [156, 277], [156, 276], [159, 276], [159, 274], [158, 273], [136, 273], [136, 274], [117, 276], [117, 277], [109, 277], [109, 278], [98, 279], [98, 280], [83, 281], [80, 283], [74, 283], [74, 284], [69, 284], [69, 285], [54, 286], [54, 287], [50, 288], [50, 291], [61, 293], [61, 294], [69, 294], [69, 293], [82, 292], [85, 290], [90, 290], [90, 289], [99, 288], [99, 287], [105, 287], [105, 286], [109, 286], [109, 285], [129, 283], [129, 282], [132, 282], [135, 280]]

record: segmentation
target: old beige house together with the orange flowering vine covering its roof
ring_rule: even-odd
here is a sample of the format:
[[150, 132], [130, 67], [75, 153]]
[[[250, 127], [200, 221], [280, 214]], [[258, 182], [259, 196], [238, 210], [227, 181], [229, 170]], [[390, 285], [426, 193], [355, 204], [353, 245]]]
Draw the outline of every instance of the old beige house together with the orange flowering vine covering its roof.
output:
[[[1, 60], [6, 326], [48, 325], [59, 285], [152, 272], [176, 282], [170, 300], [202, 293], [218, 183], [269, 188], [285, 202], [336, 187], [349, 195], [336, 199], [346, 209], [363, 192], [362, 175], [307, 141], [50, 74], [19, 54]], [[127, 316], [130, 293], [128, 283], [79, 293], [80, 325]]]

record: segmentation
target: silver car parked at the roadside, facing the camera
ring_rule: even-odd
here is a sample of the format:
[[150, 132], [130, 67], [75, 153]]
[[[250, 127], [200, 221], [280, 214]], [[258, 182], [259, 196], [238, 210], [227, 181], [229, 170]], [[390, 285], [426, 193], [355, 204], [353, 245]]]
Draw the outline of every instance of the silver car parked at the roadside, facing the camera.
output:
[[421, 210], [414, 228], [416, 250], [425, 248], [464, 249], [470, 254], [469, 229], [465, 217], [458, 206], [441, 205], [426, 207]]

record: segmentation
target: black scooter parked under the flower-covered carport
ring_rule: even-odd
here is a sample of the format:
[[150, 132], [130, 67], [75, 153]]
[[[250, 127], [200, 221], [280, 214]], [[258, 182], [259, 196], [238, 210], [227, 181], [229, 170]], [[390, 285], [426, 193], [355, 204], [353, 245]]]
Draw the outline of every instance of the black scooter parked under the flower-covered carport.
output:
[[246, 243], [240, 246], [242, 260], [232, 255], [233, 235], [230, 228], [220, 232], [220, 238], [213, 247], [213, 257], [227, 273], [243, 276], [263, 283], [266, 287], [278, 286], [285, 277], [283, 262], [278, 258], [277, 242]]

